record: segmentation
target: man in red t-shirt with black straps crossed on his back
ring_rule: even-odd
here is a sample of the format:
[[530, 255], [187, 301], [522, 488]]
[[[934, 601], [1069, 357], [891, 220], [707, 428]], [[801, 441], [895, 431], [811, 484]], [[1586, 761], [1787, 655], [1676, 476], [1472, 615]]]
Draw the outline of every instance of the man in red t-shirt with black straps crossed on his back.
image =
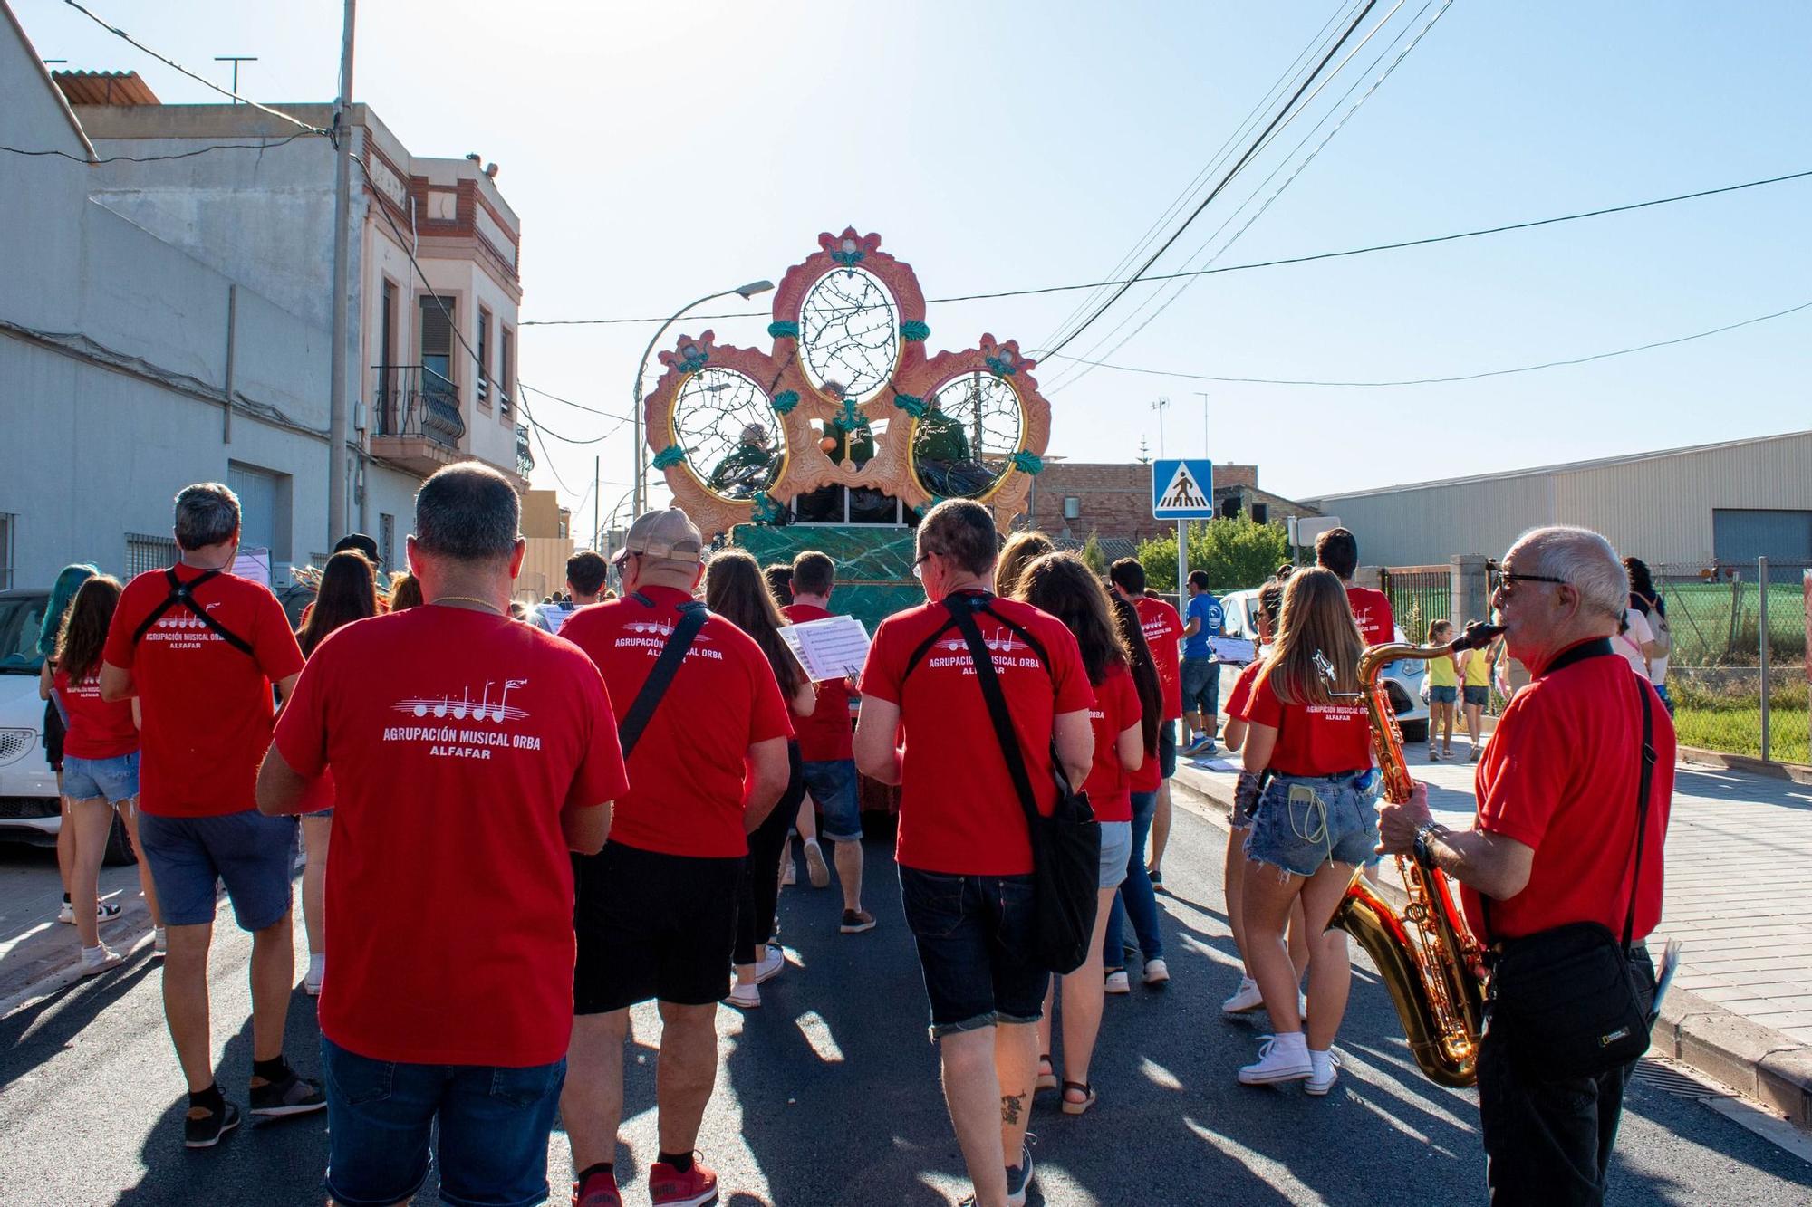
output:
[[239, 547], [239, 498], [219, 482], [176, 497], [178, 564], [129, 582], [107, 629], [101, 698], [140, 698], [140, 850], [163, 906], [163, 1013], [188, 1080], [183, 1144], [212, 1147], [239, 1124], [214, 1084], [208, 942], [226, 884], [252, 932], [252, 1115], [326, 1106], [283, 1058], [295, 982], [290, 861], [295, 819], [257, 812], [257, 763], [270, 747], [272, 685], [288, 700], [303, 669], [283, 605], [226, 573]]

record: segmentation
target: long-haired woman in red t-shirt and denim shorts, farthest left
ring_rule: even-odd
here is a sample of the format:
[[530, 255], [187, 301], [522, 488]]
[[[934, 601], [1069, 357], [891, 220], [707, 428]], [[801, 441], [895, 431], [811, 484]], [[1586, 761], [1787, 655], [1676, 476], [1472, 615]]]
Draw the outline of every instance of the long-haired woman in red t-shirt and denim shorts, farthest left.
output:
[[[107, 625], [120, 605], [120, 580], [96, 575], [82, 584], [63, 614], [56, 634], [51, 687], [63, 714], [63, 797], [67, 821], [74, 825], [76, 846], [69, 868], [69, 901], [82, 941], [82, 975], [112, 968], [123, 957], [100, 939], [101, 857], [114, 808], [138, 850], [138, 700], [107, 703], [101, 700], [101, 649]], [[158, 892], [145, 861], [138, 861], [140, 888], [150, 908], [154, 950], [161, 951], [163, 915]], [[118, 917], [118, 906], [105, 917]]]

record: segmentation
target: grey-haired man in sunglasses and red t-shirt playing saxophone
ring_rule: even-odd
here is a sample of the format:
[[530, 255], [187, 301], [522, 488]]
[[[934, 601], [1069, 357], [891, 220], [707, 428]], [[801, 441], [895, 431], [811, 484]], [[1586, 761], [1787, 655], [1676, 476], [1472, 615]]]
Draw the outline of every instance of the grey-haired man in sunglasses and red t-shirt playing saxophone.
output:
[[[1511, 547], [1491, 605], [1533, 681], [1486, 745], [1473, 828], [1435, 823], [1417, 785], [1408, 803], [1379, 805], [1379, 850], [1424, 852], [1455, 877], [1466, 921], [1486, 944], [1569, 922], [1598, 922], [1622, 939], [1633, 917], [1629, 968], [1647, 1000], [1654, 966], [1642, 941], [1662, 917], [1674, 727], [1647, 678], [1611, 649], [1627, 591], [1616, 551], [1598, 533], [1544, 527]], [[1649, 796], [1638, 801], [1643, 709], [1654, 759]], [[1479, 1048], [1493, 1202], [1600, 1202], [1634, 1062], [1533, 1080], [1508, 1042], [1486, 1028]]]

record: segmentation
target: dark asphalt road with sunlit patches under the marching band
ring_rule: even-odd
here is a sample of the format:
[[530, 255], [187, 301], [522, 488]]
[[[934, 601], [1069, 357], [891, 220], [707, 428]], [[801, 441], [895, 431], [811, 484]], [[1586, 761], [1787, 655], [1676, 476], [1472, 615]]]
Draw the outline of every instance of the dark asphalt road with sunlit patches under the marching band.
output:
[[[1363, 962], [1337, 1044], [1345, 1073], [1330, 1096], [1234, 1082], [1258, 1028], [1219, 1017], [1238, 977], [1221, 915], [1223, 843], [1203, 816], [1178, 810], [1165, 857], [1172, 895], [1161, 897], [1171, 988], [1107, 1000], [1094, 1058], [1100, 1104], [1089, 1115], [1067, 1118], [1055, 1095], [1040, 1095], [1033, 1202], [1482, 1202], [1475, 1100], [1421, 1078]], [[879, 930], [839, 935], [835, 888], [810, 890], [801, 877], [781, 903], [795, 964], [763, 986], [759, 1011], [719, 1013], [723, 1067], [699, 1149], [719, 1173], [725, 1203], [917, 1207], [966, 1193], [886, 854], [870, 843], [868, 906]], [[248, 951], [228, 922], [212, 968], [217, 1067], [241, 1106]], [[647, 1202], [656, 1037], [652, 1011], [640, 1009], [618, 1160], [629, 1203]], [[313, 1006], [297, 991], [288, 1051], [303, 1071], [319, 1069], [315, 1046]], [[0, 1202], [323, 1202], [324, 1116], [248, 1124], [217, 1149], [188, 1153], [181, 1089], [158, 970], [145, 957], [0, 1020]], [[556, 1131], [556, 1202], [569, 1174]], [[439, 1202], [431, 1185], [417, 1202]], [[1812, 1203], [1812, 1165], [1696, 1100], [1636, 1086], [1609, 1202]]]

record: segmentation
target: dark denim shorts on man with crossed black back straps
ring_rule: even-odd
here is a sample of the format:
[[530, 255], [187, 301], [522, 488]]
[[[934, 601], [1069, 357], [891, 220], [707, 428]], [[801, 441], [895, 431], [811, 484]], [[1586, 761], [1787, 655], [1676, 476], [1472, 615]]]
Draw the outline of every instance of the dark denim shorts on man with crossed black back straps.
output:
[[223, 883], [239, 930], [265, 930], [290, 915], [295, 817], [266, 817], [255, 808], [214, 817], [140, 810], [138, 843], [170, 926], [212, 922]]

